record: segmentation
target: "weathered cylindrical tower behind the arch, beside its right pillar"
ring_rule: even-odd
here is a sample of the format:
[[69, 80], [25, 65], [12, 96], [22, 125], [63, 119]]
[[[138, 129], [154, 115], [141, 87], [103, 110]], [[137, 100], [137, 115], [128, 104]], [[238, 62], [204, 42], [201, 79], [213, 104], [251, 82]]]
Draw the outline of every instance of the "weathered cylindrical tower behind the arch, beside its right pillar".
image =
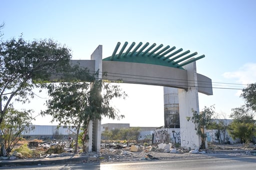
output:
[[164, 128], [179, 128], [178, 89], [163, 87]]

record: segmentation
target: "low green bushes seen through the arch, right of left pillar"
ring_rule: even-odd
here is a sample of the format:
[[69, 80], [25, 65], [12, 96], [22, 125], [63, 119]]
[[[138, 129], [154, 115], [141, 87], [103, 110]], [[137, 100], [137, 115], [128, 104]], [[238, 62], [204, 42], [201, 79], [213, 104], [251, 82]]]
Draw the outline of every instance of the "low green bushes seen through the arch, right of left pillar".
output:
[[101, 133], [101, 135], [106, 140], [136, 141], [138, 139], [139, 132], [139, 128], [133, 127], [125, 129], [114, 129], [111, 131], [105, 130]]

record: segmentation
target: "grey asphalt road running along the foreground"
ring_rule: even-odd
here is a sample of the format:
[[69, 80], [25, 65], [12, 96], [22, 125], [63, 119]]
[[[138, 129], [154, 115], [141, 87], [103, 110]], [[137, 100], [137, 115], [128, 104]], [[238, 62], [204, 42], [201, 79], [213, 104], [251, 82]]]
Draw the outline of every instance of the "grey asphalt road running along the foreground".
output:
[[256, 157], [1, 167], [0, 170], [255, 170]]

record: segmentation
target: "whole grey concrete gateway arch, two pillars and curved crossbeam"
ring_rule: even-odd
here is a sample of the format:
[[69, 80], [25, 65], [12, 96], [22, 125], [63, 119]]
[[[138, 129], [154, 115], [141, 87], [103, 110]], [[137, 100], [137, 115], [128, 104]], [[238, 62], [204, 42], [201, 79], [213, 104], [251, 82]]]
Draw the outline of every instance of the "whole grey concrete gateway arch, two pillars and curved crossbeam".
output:
[[[123, 51], [123, 49], [121, 50]], [[113, 53], [112, 56], [120, 58], [122, 55]], [[102, 60], [102, 45], [99, 45], [91, 54], [91, 60], [73, 60], [72, 62], [79, 62], [80, 66], [87, 67], [91, 71], [107, 72], [107, 76], [99, 78], [113, 82], [122, 80], [123, 83], [178, 88], [181, 147], [198, 149], [201, 141], [195, 133], [194, 124], [188, 119], [192, 116], [191, 109], [199, 113], [198, 92], [212, 95], [212, 84], [211, 79], [196, 73], [195, 60], [196, 58], [190, 58], [185, 61], [182, 68], [162, 64], [114, 61], [110, 58]], [[100, 120], [90, 122], [88, 136], [87, 146], [89, 148], [87, 150], [98, 152], [100, 149]]]

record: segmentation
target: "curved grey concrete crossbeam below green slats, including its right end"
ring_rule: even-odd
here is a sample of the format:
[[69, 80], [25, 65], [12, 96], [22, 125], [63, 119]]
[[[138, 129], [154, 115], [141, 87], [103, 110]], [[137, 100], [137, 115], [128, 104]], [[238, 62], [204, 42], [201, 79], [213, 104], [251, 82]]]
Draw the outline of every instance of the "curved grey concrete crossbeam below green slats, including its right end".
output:
[[154, 64], [102, 60], [102, 72], [107, 73], [107, 76], [102, 78], [112, 82], [121, 80], [122, 83], [174, 87], [184, 90], [194, 85], [198, 87], [198, 92], [212, 95], [211, 79], [197, 73], [197, 82], [191, 82], [187, 80], [187, 71], [183, 69]]

